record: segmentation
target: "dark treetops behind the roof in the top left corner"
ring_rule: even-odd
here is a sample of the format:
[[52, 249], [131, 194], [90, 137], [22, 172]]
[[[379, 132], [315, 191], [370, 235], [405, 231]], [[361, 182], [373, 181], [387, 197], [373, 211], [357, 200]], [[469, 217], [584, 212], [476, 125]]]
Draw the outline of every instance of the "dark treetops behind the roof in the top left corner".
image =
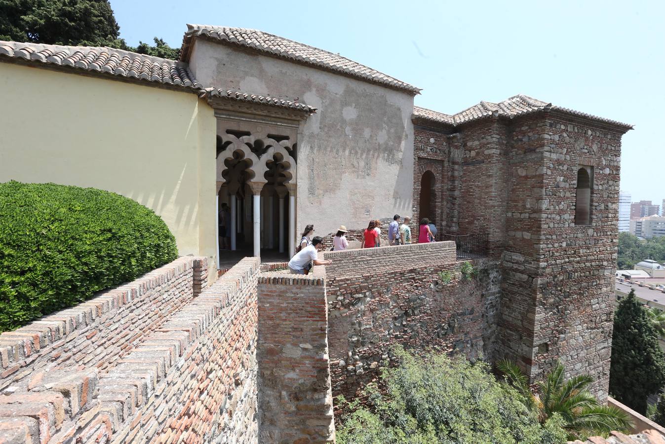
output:
[[180, 49], [162, 39], [130, 47], [108, 0], [0, 0], [0, 40], [49, 45], [98, 46], [177, 59]]

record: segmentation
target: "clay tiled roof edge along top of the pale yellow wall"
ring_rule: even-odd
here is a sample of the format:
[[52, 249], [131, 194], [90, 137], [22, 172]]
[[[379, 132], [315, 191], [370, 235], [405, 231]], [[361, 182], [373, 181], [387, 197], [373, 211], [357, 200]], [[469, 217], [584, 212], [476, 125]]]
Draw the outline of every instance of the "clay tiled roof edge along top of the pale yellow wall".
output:
[[143, 80], [198, 90], [186, 63], [107, 47], [66, 47], [0, 41], [0, 58], [109, 74], [128, 80]]

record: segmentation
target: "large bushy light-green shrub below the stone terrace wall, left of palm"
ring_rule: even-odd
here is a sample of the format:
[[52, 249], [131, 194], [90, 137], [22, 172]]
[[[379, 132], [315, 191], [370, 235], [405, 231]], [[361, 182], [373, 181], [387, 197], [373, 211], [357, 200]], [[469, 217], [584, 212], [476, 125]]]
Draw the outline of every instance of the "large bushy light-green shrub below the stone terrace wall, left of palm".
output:
[[395, 349], [400, 365], [384, 370], [386, 393], [368, 386], [370, 407], [357, 401], [336, 431], [340, 444], [561, 443], [561, 418], [539, 423], [515, 389], [498, 382], [483, 362], [445, 354], [417, 358]]

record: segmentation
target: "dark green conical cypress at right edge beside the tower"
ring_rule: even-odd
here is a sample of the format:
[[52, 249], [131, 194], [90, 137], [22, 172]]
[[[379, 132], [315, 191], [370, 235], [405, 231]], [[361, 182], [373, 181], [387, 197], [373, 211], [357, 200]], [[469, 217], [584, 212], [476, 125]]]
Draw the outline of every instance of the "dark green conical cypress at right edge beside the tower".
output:
[[614, 314], [610, 393], [644, 415], [646, 398], [663, 384], [665, 356], [658, 345], [658, 333], [632, 289]]

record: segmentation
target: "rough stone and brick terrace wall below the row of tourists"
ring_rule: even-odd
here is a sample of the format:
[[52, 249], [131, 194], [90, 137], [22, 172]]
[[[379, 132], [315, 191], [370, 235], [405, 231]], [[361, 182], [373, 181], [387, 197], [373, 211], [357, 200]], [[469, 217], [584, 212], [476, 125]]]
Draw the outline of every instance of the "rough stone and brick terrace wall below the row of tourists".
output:
[[[497, 342], [500, 275], [495, 261], [474, 261], [462, 280], [454, 243], [325, 253], [332, 394], [354, 397], [376, 380], [402, 344], [424, 352], [483, 354]], [[450, 271], [442, 284], [438, 272]]]

